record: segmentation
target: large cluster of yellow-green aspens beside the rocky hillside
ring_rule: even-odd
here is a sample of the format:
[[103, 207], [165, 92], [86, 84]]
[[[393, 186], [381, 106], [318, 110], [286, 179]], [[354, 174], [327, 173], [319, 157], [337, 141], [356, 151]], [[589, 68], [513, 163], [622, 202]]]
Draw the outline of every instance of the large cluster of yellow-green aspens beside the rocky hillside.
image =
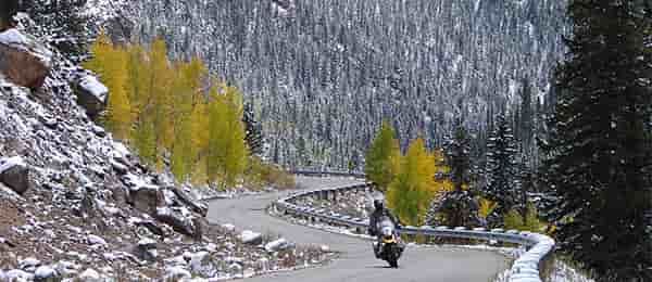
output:
[[171, 60], [162, 39], [118, 46], [103, 34], [90, 51], [84, 66], [110, 90], [103, 124], [152, 168], [218, 189], [293, 187], [258, 155], [262, 137], [242, 93], [209, 75], [200, 59]]

